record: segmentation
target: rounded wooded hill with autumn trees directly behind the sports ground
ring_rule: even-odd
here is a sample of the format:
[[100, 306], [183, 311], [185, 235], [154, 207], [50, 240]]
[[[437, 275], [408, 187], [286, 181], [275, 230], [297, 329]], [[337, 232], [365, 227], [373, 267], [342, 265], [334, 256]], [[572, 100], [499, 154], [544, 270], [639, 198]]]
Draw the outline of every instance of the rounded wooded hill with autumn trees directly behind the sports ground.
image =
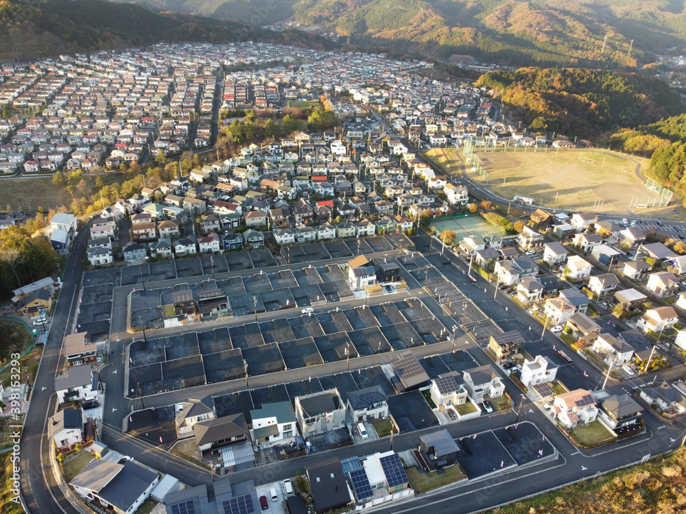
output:
[[595, 138], [686, 111], [667, 83], [630, 73], [586, 69], [523, 68], [482, 75], [513, 117], [532, 130]]

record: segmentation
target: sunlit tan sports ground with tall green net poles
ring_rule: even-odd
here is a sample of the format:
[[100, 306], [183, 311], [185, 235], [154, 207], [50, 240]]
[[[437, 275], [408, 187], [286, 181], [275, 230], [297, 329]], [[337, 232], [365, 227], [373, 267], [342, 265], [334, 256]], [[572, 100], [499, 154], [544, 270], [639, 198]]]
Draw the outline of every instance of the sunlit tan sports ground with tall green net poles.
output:
[[[434, 149], [427, 152], [445, 173], [460, 173], [462, 161], [456, 149]], [[530, 197], [544, 208], [589, 210], [608, 214], [658, 215], [665, 209], [630, 208], [633, 204], [652, 203], [655, 193], [648, 191], [637, 175], [648, 169], [643, 158], [625, 158], [601, 150], [547, 149], [538, 151], [478, 151], [475, 153], [488, 171], [490, 191], [512, 199], [514, 195]], [[466, 167], [467, 175], [477, 184], [484, 179]], [[453, 175], [454, 176], [454, 175]], [[659, 201], [659, 199], [658, 199]], [[674, 207], [674, 204], [667, 210]]]

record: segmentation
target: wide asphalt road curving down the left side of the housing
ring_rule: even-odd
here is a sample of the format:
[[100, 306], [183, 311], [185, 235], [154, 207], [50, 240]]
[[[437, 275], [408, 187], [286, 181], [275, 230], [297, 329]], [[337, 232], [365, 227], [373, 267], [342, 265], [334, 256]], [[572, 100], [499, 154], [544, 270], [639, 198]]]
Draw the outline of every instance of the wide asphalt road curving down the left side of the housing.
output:
[[71, 251], [21, 434], [21, 493], [30, 513], [77, 513], [52, 476], [49, 441], [45, 432], [47, 417], [55, 408], [55, 375], [62, 354], [62, 341], [67, 327], [71, 326], [74, 301], [81, 285], [81, 257], [86, 249], [90, 225], [88, 223], [80, 230]]

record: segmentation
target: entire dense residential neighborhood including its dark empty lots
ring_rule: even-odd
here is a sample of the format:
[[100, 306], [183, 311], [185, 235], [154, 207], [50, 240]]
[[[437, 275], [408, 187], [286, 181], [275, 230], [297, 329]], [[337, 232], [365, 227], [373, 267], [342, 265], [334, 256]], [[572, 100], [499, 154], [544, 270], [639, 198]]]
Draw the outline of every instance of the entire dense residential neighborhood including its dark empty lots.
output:
[[[21, 391], [25, 419], [47, 415], [23, 428], [45, 443], [26, 451], [64, 502], [390, 513], [672, 448], [685, 225], [544, 209], [438, 167], [429, 149], [575, 145], [505, 123], [486, 88], [431, 66], [252, 42], [4, 66], [1, 173], [176, 175], [51, 214], [36, 237], [60, 276], [12, 291], [56, 371]], [[220, 158], [246, 112], [296, 105], [336, 123]], [[0, 230], [28, 218], [1, 216]]]

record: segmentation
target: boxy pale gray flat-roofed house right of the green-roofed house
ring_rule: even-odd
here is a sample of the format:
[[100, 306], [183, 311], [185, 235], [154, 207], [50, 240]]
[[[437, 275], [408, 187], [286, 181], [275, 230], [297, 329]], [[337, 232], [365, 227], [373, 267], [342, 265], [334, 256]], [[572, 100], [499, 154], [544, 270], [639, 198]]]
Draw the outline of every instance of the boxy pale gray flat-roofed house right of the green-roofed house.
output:
[[346, 406], [338, 389], [296, 396], [296, 418], [303, 438], [345, 426]]

